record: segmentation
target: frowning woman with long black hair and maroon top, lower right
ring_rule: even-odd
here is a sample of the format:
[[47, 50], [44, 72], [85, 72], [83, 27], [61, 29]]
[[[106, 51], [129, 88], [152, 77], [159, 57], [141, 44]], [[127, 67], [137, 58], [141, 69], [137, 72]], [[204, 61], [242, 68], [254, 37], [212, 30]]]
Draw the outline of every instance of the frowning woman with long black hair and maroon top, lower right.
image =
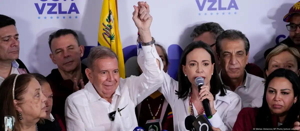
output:
[[291, 129], [298, 120], [299, 95], [297, 74], [284, 68], [276, 69], [266, 79], [262, 107], [243, 108], [238, 113], [233, 131], [249, 131], [254, 128]]

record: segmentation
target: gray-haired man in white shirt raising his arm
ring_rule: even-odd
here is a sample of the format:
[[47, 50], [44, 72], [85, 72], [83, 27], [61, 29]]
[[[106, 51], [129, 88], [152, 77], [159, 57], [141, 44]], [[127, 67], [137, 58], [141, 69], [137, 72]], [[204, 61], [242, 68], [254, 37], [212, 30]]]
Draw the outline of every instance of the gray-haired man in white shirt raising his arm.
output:
[[[120, 78], [118, 57], [110, 49], [97, 46], [88, 55], [85, 73], [89, 82], [65, 103], [68, 131], [132, 131], [138, 126], [135, 107], [161, 87], [164, 68], [150, 33], [149, 7], [134, 6], [133, 20], [141, 36], [143, 74]], [[140, 15], [139, 15], [140, 13]]]

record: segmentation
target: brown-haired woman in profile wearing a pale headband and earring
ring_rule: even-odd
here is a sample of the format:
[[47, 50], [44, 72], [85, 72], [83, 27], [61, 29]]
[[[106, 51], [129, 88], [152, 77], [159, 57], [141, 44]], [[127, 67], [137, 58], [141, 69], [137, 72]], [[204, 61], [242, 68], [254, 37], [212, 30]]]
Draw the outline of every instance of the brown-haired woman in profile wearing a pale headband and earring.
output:
[[[36, 123], [46, 117], [47, 98], [32, 74], [11, 74], [0, 86], [0, 123], [13, 116], [14, 131], [37, 131]], [[4, 125], [0, 126], [4, 130]]]

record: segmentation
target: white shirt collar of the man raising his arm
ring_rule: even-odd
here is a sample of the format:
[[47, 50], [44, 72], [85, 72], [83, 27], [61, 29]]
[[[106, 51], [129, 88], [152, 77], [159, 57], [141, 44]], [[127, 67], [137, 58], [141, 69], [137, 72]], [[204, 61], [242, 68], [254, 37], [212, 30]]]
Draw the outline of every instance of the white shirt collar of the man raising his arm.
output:
[[[85, 85], [85, 88], [87, 88], [87, 90], [88, 90], [88, 98], [89, 98], [90, 103], [95, 102], [101, 98], [100, 95], [97, 93], [96, 89], [94, 88], [93, 84], [90, 81]], [[121, 96], [120, 86], [117, 87], [115, 93], [113, 94], [113, 97], [115, 95]]]

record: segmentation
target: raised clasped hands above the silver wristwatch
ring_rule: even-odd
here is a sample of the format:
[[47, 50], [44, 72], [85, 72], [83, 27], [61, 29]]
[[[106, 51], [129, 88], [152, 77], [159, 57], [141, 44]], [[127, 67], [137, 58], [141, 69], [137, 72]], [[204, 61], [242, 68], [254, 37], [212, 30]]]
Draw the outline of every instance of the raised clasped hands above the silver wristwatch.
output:
[[138, 2], [138, 7], [134, 5], [132, 19], [140, 33], [150, 31], [152, 16], [149, 14], [149, 12], [149, 5], [147, 2]]

